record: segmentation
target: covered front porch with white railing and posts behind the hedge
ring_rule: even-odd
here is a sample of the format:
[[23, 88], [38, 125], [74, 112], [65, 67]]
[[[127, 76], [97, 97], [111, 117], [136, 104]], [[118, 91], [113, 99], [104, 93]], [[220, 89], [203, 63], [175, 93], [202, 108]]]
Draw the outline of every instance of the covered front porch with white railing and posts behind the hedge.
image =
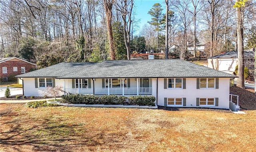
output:
[[64, 93], [92, 95], [152, 95], [152, 79], [64, 79]]

